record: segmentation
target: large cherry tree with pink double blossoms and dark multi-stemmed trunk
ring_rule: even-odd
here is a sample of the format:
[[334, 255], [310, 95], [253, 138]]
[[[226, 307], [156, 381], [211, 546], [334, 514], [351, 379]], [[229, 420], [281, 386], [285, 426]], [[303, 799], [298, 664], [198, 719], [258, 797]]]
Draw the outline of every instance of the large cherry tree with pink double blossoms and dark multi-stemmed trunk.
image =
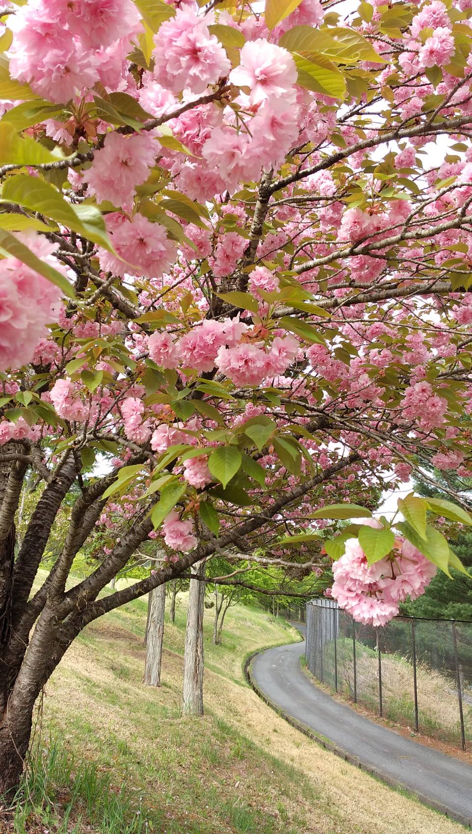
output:
[[[422, 465], [471, 475], [471, 17], [3, 3], [0, 792], [83, 628], [212, 555], [243, 587], [338, 560], [374, 625], [460, 567], [452, 483], [371, 515]], [[165, 562], [100, 595], [149, 537]]]

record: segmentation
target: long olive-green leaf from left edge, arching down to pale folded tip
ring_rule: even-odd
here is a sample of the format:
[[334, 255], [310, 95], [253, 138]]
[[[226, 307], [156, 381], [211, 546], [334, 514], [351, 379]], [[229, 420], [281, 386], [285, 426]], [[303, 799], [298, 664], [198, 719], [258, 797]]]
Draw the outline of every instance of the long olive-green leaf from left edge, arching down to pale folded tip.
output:
[[53, 185], [23, 173], [8, 177], [3, 184], [2, 197], [9, 203], [18, 203], [23, 208], [38, 211], [113, 252], [102, 213], [97, 206], [68, 203]]

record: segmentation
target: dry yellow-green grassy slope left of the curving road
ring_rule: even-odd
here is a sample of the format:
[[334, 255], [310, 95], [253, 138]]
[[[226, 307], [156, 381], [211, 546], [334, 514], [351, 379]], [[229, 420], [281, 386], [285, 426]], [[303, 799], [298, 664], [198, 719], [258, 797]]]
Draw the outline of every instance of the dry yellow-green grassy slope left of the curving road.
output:
[[146, 603], [137, 600], [88, 626], [44, 699], [43, 735], [95, 762], [117, 790], [124, 783], [134, 804], [142, 802], [143, 831], [465, 831], [324, 751], [259, 700], [245, 684], [244, 656], [296, 639], [262, 611], [230, 609], [222, 646], [211, 643], [213, 610], [206, 612], [206, 715], [183, 718], [185, 606], [182, 595], [175, 625], [166, 622], [159, 689], [142, 683]]

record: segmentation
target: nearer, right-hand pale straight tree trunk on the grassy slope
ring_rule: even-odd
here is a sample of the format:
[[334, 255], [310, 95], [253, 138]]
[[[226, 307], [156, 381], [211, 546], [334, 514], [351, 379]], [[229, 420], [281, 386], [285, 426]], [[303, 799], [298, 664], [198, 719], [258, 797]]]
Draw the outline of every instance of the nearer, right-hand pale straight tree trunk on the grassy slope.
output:
[[[192, 573], [205, 574], [204, 561], [192, 567]], [[205, 583], [190, 580], [187, 628], [183, 654], [183, 712], [203, 716], [203, 610]]]

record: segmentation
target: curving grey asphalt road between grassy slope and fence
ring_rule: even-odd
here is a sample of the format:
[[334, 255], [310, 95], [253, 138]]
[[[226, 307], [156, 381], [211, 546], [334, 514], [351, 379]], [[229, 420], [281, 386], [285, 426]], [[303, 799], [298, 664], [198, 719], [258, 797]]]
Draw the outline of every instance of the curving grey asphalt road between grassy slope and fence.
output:
[[329, 749], [472, 826], [472, 766], [400, 736], [319, 690], [300, 667], [304, 646], [291, 643], [254, 657], [249, 675], [259, 694]]

